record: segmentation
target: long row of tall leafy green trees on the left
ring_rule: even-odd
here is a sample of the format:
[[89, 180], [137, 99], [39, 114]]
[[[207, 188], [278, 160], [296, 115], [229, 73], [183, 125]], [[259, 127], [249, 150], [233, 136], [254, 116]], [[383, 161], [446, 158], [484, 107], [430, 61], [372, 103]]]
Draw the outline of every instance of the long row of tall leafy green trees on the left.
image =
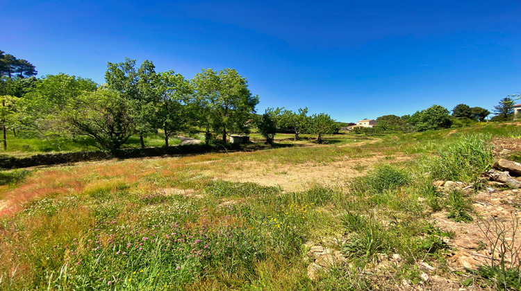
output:
[[[108, 63], [106, 84], [65, 74], [43, 78], [3, 76], [3, 125], [38, 132], [50, 140], [90, 136], [102, 149], [116, 150], [130, 136], [158, 129], [165, 145], [178, 132], [206, 130], [206, 142], [230, 132], [247, 133], [258, 104], [235, 69], [204, 69], [187, 80], [174, 71], [156, 72], [135, 60]], [[4, 139], [5, 140], [5, 139]]]

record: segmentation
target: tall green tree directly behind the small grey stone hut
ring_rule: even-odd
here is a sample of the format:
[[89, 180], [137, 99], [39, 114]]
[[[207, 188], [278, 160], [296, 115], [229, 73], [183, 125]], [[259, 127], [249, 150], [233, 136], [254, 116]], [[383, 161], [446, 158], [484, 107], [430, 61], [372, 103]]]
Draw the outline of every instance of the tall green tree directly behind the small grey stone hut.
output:
[[197, 104], [201, 113], [206, 114], [207, 132], [211, 128], [215, 134], [222, 134], [226, 142], [229, 132], [248, 133], [247, 120], [255, 113], [258, 96], [248, 89], [246, 78], [235, 69], [224, 69], [217, 73], [213, 69], [203, 69], [192, 80], [197, 91]]

